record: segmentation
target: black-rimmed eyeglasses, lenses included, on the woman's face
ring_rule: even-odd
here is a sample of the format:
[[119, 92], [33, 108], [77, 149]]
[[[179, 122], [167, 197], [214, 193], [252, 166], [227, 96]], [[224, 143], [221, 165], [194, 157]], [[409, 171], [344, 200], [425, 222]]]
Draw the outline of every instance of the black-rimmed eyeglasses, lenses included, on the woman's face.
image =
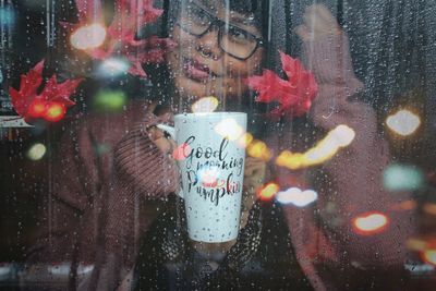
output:
[[190, 9], [182, 9], [181, 17], [177, 24], [184, 32], [196, 37], [202, 37], [213, 27], [217, 27], [219, 47], [226, 53], [239, 60], [249, 59], [258, 47], [264, 45], [261, 37], [221, 21], [194, 3], [191, 3]]

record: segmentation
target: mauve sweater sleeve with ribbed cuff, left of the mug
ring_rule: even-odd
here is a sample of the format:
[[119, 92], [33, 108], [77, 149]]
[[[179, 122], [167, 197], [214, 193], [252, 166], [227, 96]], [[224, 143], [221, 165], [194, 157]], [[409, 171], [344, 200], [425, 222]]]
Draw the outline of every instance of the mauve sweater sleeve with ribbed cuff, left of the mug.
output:
[[[165, 199], [178, 186], [173, 162], [146, 132], [160, 122], [153, 114], [124, 112], [84, 118], [65, 131], [52, 160], [52, 187], [39, 209], [29, 263], [85, 260], [95, 265], [92, 276], [99, 281], [94, 287], [100, 288], [104, 278], [117, 284], [153, 219], [141, 216], [144, 204]], [[89, 278], [81, 280], [76, 283], [84, 290], [97, 289]]]

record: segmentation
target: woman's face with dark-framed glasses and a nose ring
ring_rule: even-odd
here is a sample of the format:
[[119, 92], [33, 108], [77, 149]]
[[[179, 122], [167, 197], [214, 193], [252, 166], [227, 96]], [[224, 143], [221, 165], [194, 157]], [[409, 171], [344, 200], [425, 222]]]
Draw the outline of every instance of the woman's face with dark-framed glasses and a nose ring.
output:
[[182, 8], [174, 25], [179, 47], [167, 57], [182, 100], [242, 96], [247, 90], [243, 80], [262, 62], [261, 29], [249, 15], [226, 13], [221, 2], [195, 0]]

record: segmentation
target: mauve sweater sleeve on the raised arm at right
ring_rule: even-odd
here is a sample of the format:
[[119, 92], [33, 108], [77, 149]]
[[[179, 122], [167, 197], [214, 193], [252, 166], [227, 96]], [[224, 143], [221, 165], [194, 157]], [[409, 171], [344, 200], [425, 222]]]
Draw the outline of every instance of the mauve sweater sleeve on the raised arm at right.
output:
[[[355, 99], [363, 85], [352, 69], [348, 38], [344, 34], [326, 36], [305, 43], [303, 50], [319, 84], [311, 120], [326, 132], [346, 124], [355, 137], [320, 167], [325, 183], [318, 189], [315, 213], [322, 221], [315, 222], [314, 213], [310, 217], [308, 209], [291, 207], [287, 207], [287, 218], [304, 220], [305, 223], [290, 223], [300, 229], [306, 242], [314, 239], [319, 243], [315, 253], [320, 257], [328, 253], [336, 255], [335, 260], [364, 267], [401, 266], [407, 258], [405, 240], [413, 231], [414, 218], [412, 213], [400, 211], [395, 205], [409, 199], [410, 193], [389, 193], [383, 187], [383, 170], [390, 162], [389, 149], [377, 133], [374, 110]], [[372, 213], [385, 215], [387, 228], [372, 235], [358, 233], [353, 219]], [[303, 229], [308, 221], [311, 226]], [[302, 248], [306, 247], [304, 239], [295, 237], [295, 240]], [[303, 253], [311, 252], [306, 247]]]

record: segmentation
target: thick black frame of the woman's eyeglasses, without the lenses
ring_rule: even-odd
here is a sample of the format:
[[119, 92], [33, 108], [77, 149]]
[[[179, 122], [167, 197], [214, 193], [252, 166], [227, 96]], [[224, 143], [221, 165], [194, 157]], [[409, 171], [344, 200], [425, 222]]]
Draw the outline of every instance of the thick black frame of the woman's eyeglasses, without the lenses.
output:
[[[195, 3], [192, 3], [192, 4], [194, 4], [194, 5], [196, 5], [198, 9], [201, 9], [202, 12], [204, 12], [204, 13], [209, 17], [210, 23], [209, 23], [209, 26], [208, 26], [202, 34], [194, 34], [194, 33], [192, 33], [192, 32], [186, 31], [186, 29], [180, 24], [180, 20], [177, 21], [177, 22], [175, 22], [175, 25], [178, 25], [178, 26], [179, 26], [183, 32], [185, 32], [186, 34], [190, 34], [190, 35], [192, 35], [192, 36], [195, 36], [195, 37], [197, 37], [197, 38], [201, 38], [201, 37], [203, 37], [204, 35], [206, 35], [207, 33], [209, 33], [209, 32], [211, 31], [213, 27], [217, 27], [217, 28], [218, 28], [218, 46], [219, 46], [219, 48], [220, 48], [223, 52], [226, 52], [227, 54], [233, 57], [234, 59], [241, 60], [241, 61], [245, 61], [245, 60], [250, 59], [251, 57], [253, 57], [253, 54], [256, 52], [256, 50], [257, 50], [259, 47], [263, 47], [263, 46], [265, 45], [265, 39], [264, 39], [264, 38], [258, 37], [258, 36], [256, 36], [255, 34], [252, 34], [252, 33], [250, 33], [250, 32], [247, 32], [247, 31], [245, 31], [245, 29], [243, 29], [243, 28], [241, 28], [241, 27], [239, 27], [239, 26], [237, 26], [237, 25], [233, 25], [233, 24], [230, 24], [230, 23], [229, 23], [229, 24], [226, 23], [225, 21], [222, 21], [222, 20], [218, 19], [217, 16], [210, 14], [207, 10], [203, 9], [201, 5], [197, 5], [197, 4], [195, 4]], [[232, 26], [232, 27], [235, 27], [235, 28], [238, 28], [238, 29], [240, 29], [240, 31], [243, 31], [244, 33], [246, 33], [247, 35], [250, 35], [251, 37], [253, 37], [253, 38], [256, 40], [256, 46], [253, 48], [253, 51], [252, 51], [247, 57], [241, 58], [241, 57], [234, 56], [233, 53], [230, 53], [230, 52], [228, 52], [227, 50], [225, 50], [225, 49], [222, 48], [222, 46], [221, 46], [221, 38], [222, 38], [222, 31], [221, 31], [221, 28], [222, 28], [223, 26], [226, 26], [227, 24], [228, 24], [229, 26]]]

